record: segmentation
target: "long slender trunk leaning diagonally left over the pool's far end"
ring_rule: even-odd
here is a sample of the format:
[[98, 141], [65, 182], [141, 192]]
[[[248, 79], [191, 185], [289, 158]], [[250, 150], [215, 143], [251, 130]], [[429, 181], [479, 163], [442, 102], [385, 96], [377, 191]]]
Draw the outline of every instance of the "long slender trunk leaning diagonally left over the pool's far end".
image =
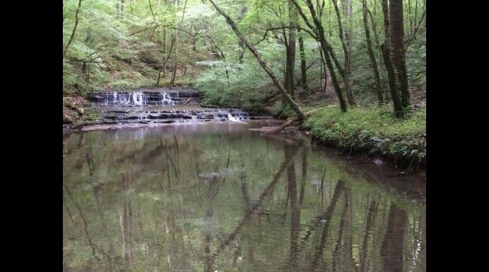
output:
[[212, 6], [214, 6], [214, 8], [216, 8], [216, 10], [224, 18], [226, 18], [226, 22], [231, 26], [231, 28], [233, 29], [233, 31], [236, 34], [236, 36], [238, 36], [238, 38], [240, 38], [240, 40], [246, 45], [246, 47], [248, 47], [248, 49], [254, 54], [254, 56], [256, 57], [256, 60], [258, 60], [258, 63], [260, 63], [260, 65], [263, 68], [263, 70], [265, 70], [265, 72], [268, 73], [268, 75], [270, 76], [270, 78], [275, 83], [275, 86], [277, 86], [277, 88], [279, 89], [279, 91], [282, 93], [282, 96], [284, 96], [284, 98], [286, 98], [286, 100], [289, 102], [289, 104], [291, 105], [291, 107], [294, 110], [294, 112], [296, 112], [298, 114], [298, 116], [300, 118], [300, 121], [304, 121], [305, 120], [305, 116], [300, 111], [299, 106], [297, 105], [297, 103], [295, 103], [295, 101], [291, 98], [291, 96], [289, 96], [289, 94], [287, 93], [287, 91], [284, 89], [284, 86], [282, 85], [282, 83], [280, 83], [280, 81], [275, 76], [275, 73], [273, 73], [272, 69], [270, 69], [270, 67], [268, 67], [268, 64], [265, 63], [265, 61], [263, 61], [263, 59], [261, 58], [261, 54], [258, 52], [258, 50], [256, 50], [256, 48], [253, 45], [251, 45], [251, 44], [248, 43], [248, 41], [245, 39], [245, 36], [242, 35], [242, 33], [238, 30], [238, 27], [236, 27], [236, 24], [233, 22], [233, 20], [231, 20], [231, 17], [229, 17], [228, 15], [226, 15], [226, 13], [224, 13], [223, 10], [221, 10], [220, 8], [218, 8], [217, 5], [216, 5], [216, 3], [214, 3], [214, 1], [212, 1], [212, 0], [209, 0], [209, 1], [210, 1], [210, 3], [212, 3]]

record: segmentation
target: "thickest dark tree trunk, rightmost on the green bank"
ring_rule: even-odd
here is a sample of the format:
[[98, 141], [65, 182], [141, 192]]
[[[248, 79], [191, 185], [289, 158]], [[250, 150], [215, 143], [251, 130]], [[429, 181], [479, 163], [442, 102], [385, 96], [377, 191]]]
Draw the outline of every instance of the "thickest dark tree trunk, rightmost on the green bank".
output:
[[391, 48], [392, 60], [400, 83], [402, 107], [411, 105], [409, 97], [409, 84], [407, 82], [406, 59], [404, 54], [404, 23], [402, 22], [402, 0], [389, 1], [389, 14], [391, 20]]

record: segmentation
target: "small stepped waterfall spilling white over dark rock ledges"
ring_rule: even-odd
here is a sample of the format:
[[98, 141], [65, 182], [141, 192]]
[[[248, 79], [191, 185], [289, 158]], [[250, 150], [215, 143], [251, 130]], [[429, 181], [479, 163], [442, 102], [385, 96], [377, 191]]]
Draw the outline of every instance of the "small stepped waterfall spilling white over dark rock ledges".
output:
[[[268, 119], [249, 116], [241, 109], [207, 109], [199, 107], [201, 98], [194, 90], [145, 90], [89, 93], [87, 99], [103, 113], [99, 123], [120, 125], [141, 123], [233, 122]], [[120, 108], [126, 107], [126, 108]], [[141, 108], [143, 107], [143, 108]]]

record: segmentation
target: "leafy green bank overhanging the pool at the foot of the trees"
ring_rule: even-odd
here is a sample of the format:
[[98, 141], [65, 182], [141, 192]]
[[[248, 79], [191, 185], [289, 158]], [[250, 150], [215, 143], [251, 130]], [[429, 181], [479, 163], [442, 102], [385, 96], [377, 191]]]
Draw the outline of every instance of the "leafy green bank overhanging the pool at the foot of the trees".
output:
[[426, 111], [415, 109], [405, 119], [395, 119], [389, 106], [354, 107], [342, 113], [324, 107], [304, 123], [322, 144], [349, 153], [368, 153], [408, 169], [426, 166]]

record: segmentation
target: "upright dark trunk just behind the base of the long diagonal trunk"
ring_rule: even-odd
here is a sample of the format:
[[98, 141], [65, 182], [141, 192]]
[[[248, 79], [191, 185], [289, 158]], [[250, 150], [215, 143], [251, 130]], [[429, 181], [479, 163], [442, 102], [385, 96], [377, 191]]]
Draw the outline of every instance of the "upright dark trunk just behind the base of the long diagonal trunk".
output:
[[298, 13], [293, 3], [289, 0], [289, 43], [287, 46], [286, 69], [284, 88], [289, 91], [294, 98], [293, 72], [295, 68], [295, 27], [297, 27]]

